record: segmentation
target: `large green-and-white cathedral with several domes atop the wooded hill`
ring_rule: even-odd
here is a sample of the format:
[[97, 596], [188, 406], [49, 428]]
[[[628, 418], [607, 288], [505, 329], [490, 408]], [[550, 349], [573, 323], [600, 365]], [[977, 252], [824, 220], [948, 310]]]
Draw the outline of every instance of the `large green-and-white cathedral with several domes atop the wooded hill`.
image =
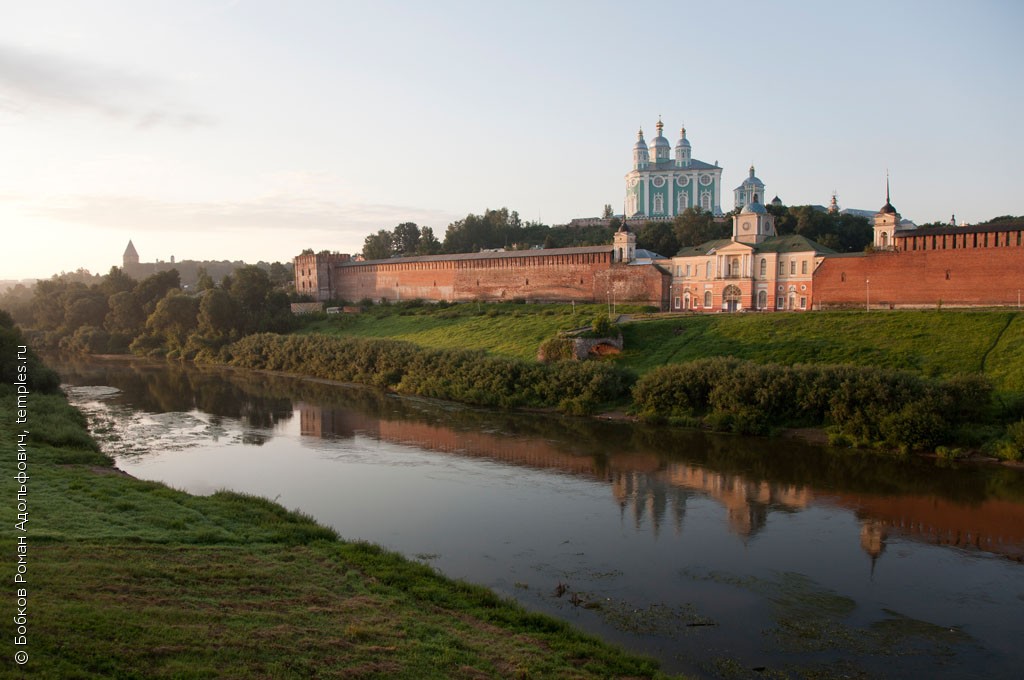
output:
[[722, 214], [722, 168], [693, 158], [686, 138], [686, 128], [679, 131], [675, 155], [662, 134], [665, 125], [657, 121], [657, 136], [648, 148], [643, 129], [633, 146], [633, 170], [626, 175], [626, 216], [629, 219], [672, 219], [687, 208], [696, 206], [716, 215]]

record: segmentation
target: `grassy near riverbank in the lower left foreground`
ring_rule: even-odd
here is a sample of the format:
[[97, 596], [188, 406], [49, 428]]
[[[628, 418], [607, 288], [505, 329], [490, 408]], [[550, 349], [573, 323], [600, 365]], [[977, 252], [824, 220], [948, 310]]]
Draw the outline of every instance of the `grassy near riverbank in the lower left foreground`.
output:
[[8, 642], [7, 677], [665, 677], [650, 660], [269, 501], [120, 474], [61, 396], [30, 405], [28, 425], [15, 425], [13, 397], [0, 397], [6, 450], [32, 432], [28, 530], [0, 540], [9, 569], [15, 537], [29, 544], [18, 648], [29, 661], [15, 666]]

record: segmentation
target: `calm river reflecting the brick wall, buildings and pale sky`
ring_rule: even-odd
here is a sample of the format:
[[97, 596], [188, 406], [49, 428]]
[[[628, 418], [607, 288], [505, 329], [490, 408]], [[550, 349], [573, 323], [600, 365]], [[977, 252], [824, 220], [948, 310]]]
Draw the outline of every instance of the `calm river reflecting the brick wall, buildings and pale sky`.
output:
[[1024, 667], [1019, 469], [239, 371], [53, 365], [136, 477], [273, 499], [667, 671], [976, 678]]

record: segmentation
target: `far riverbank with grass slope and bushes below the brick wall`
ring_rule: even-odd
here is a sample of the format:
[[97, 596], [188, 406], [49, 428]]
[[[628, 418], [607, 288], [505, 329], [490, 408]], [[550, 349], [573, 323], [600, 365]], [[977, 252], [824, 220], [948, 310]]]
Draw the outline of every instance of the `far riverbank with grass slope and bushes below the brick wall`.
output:
[[[631, 408], [653, 422], [741, 434], [826, 427], [842, 445], [937, 451], [952, 458], [967, 452], [1024, 457], [1024, 313], [1019, 311], [620, 311], [625, 350], [598, 363], [618, 373], [600, 381], [606, 388], [580, 398], [573, 385], [586, 381], [561, 378], [558, 364], [541, 371], [535, 357], [545, 340], [605, 314], [602, 305], [383, 305], [361, 314], [324, 316], [307, 324], [300, 337], [247, 338], [232, 347], [231, 360], [339, 380], [352, 379], [350, 365], [368, 366], [375, 371], [371, 384], [484, 406], [558, 405], [574, 414]], [[299, 347], [294, 341], [300, 339], [309, 346]], [[374, 351], [390, 351], [400, 360], [347, 358], [368, 342], [376, 343]], [[423, 380], [404, 377], [416, 373], [413, 357], [423, 347], [443, 352], [420, 362], [430, 370], [428, 384], [459, 384], [471, 377], [466, 367], [484, 375], [461, 390], [424, 392]], [[476, 353], [463, 356], [461, 367], [445, 369], [453, 364], [449, 354], [467, 351]], [[344, 370], [329, 370], [322, 354]], [[724, 363], [714, 363], [719, 359]], [[527, 369], [538, 376], [524, 377]], [[640, 380], [628, 394], [636, 376]], [[528, 399], [529, 387], [546, 381], [560, 387], [549, 390], [546, 400]], [[526, 400], [481, 398], [500, 396], [503, 389]]]

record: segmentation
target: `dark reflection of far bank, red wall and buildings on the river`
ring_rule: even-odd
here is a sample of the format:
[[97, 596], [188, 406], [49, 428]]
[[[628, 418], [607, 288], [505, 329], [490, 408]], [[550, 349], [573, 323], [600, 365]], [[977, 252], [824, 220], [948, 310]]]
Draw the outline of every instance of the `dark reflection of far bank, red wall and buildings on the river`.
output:
[[[340, 390], [276, 375], [120, 360], [61, 359], [68, 384], [116, 384], [120, 400], [152, 413], [201, 411], [247, 426], [262, 444], [298, 414], [313, 439], [375, 439], [602, 480], [624, 515], [653, 530], [682, 530], [686, 499], [715, 499], [729, 528], [754, 537], [771, 512], [813, 503], [853, 510], [861, 546], [880, 556], [890, 536], [1024, 560], [1024, 475], [1018, 470], [894, 461], [766, 440], [624, 426], [587, 419], [504, 414], [369, 389]], [[250, 431], [251, 430], [251, 431]]]

